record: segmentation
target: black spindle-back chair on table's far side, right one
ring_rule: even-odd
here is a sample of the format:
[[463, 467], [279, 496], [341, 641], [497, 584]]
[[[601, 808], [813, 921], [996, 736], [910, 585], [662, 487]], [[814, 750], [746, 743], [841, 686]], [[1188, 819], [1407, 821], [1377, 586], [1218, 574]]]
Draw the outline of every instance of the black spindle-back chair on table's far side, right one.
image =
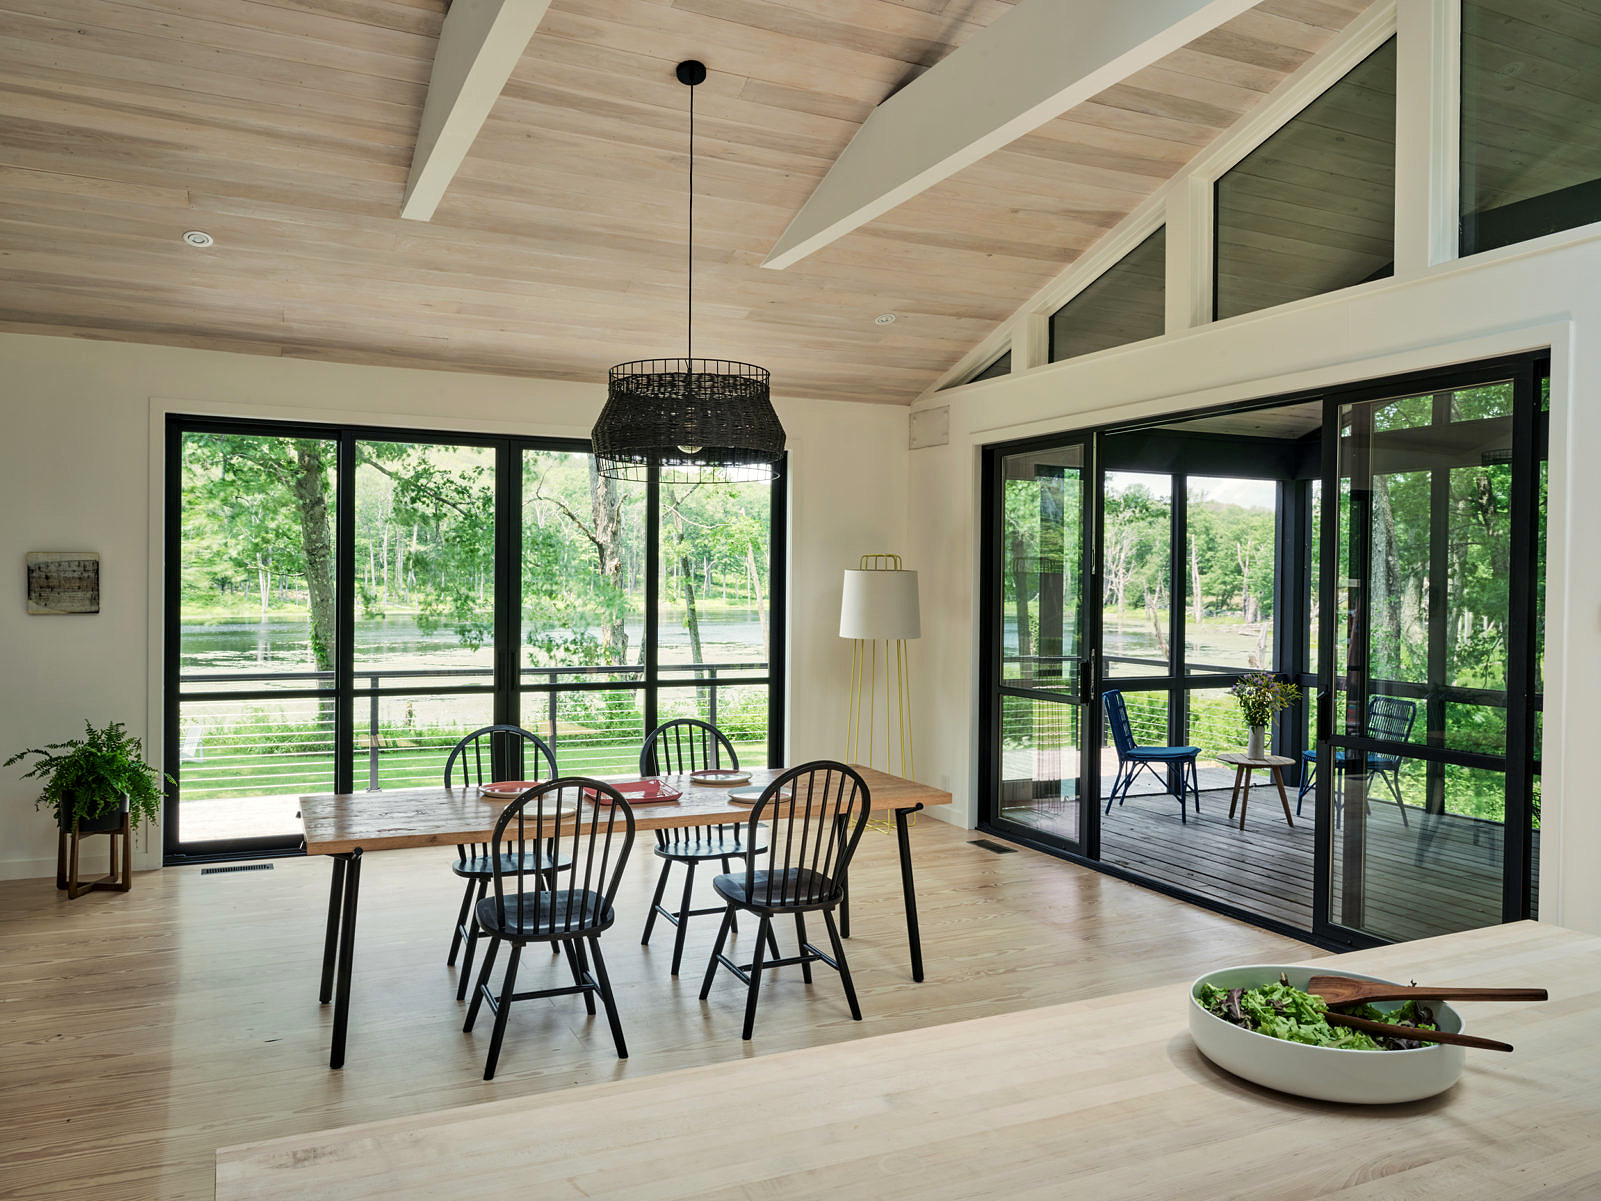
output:
[[[639, 751], [639, 773], [679, 775], [696, 772], [703, 767], [738, 767], [740, 756], [733, 753], [733, 743], [724, 737], [722, 730], [695, 717], [679, 717], [663, 722], [645, 738]], [[709, 910], [692, 910], [690, 892], [695, 887], [695, 865], [720, 862], [724, 871], [730, 871], [730, 862], [743, 858], [748, 850], [744, 842], [744, 826], [733, 823], [727, 826], [693, 826], [690, 829], [658, 829], [656, 857], [661, 860], [661, 876], [656, 879], [656, 895], [650, 900], [650, 914], [645, 918], [645, 934], [639, 942], [650, 945], [650, 930], [661, 914], [677, 927], [672, 938], [672, 975], [679, 974], [684, 961], [684, 934], [690, 918], [703, 918], [709, 913], [722, 913], [717, 905]], [[757, 847], [760, 852], [762, 849]], [[679, 902], [677, 913], [661, 903], [668, 890], [668, 876], [674, 863], [684, 865], [684, 900]], [[738, 929], [738, 927], [735, 927]], [[778, 954], [776, 943], [773, 954]]]

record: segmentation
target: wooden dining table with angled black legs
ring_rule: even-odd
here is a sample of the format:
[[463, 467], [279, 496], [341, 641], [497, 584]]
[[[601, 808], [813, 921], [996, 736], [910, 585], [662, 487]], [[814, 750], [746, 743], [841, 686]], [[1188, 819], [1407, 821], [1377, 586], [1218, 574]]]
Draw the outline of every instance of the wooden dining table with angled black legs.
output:
[[[861, 764], [852, 765], [868, 786], [869, 813], [893, 813], [900, 852], [901, 895], [906, 908], [906, 943], [911, 978], [921, 982], [922, 938], [917, 930], [917, 897], [913, 887], [909, 825], [914, 813], [951, 802], [951, 794]], [[749, 786], [762, 788], [784, 773], [783, 767], [749, 769]], [[639, 777], [599, 777], [608, 783]], [[725, 785], [701, 783], [690, 775], [661, 775], [680, 796], [672, 804], [634, 805], [636, 829], [692, 829], [744, 823], [751, 805], [740, 804]], [[333, 863], [328, 889], [328, 921], [323, 934], [319, 1001], [333, 1004], [333, 1036], [328, 1066], [343, 1068], [351, 1023], [351, 977], [355, 964], [355, 916], [362, 887], [362, 858], [376, 850], [407, 847], [456, 847], [488, 842], [495, 821], [509, 799], [492, 797], [472, 785], [435, 785], [368, 793], [319, 793], [299, 797], [306, 854], [327, 855]], [[841, 914], [841, 935], [850, 937], [849, 911]]]

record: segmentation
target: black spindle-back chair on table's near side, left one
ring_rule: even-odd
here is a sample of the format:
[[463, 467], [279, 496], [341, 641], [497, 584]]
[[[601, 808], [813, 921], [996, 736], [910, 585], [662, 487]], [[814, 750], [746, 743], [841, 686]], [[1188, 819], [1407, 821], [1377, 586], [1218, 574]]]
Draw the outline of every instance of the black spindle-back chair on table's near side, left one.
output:
[[[495, 846], [504, 854], [493, 860], [495, 890], [474, 906], [479, 927], [490, 938], [479, 969], [472, 1004], [461, 1028], [472, 1031], [479, 1006], [490, 1002], [495, 1033], [484, 1063], [484, 1079], [495, 1078], [501, 1042], [506, 1038], [506, 1014], [514, 1001], [580, 993], [591, 1017], [596, 993], [605, 1004], [607, 1022], [616, 1057], [628, 1058], [623, 1023], [616, 1015], [616, 998], [600, 958], [600, 935], [616, 921], [612, 902], [623, 879], [628, 852], [634, 846], [634, 810], [612, 785], [584, 777], [567, 777], [535, 785], [519, 796], [495, 823]], [[556, 876], [538, 866], [551, 847], [559, 846], [560, 858], [572, 865], [567, 889], [556, 889]], [[500, 993], [490, 988], [490, 972], [501, 943], [511, 943], [506, 977]], [[528, 943], [548, 942], [567, 956], [573, 983], [562, 988], [540, 988], [519, 993], [517, 964]]]

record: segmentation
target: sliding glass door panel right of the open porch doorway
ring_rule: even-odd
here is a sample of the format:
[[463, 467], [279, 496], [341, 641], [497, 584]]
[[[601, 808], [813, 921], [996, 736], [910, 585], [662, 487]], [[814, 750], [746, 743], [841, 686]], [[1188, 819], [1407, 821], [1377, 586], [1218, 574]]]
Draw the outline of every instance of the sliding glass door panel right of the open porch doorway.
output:
[[1523, 360], [1330, 402], [1326, 932], [1418, 938], [1534, 911], [1542, 380]]

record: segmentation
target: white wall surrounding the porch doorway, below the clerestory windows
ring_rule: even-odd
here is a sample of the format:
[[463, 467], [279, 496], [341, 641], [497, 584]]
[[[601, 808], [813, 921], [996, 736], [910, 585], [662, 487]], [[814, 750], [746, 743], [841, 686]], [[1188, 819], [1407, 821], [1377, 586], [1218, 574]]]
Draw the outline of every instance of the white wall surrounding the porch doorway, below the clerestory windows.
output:
[[921, 775], [977, 820], [980, 447], [1150, 413], [1551, 347], [1540, 916], [1601, 932], [1601, 234], [1559, 234], [1263, 314], [1186, 330], [914, 405], [949, 405], [949, 445], [911, 452], [922, 568]]

